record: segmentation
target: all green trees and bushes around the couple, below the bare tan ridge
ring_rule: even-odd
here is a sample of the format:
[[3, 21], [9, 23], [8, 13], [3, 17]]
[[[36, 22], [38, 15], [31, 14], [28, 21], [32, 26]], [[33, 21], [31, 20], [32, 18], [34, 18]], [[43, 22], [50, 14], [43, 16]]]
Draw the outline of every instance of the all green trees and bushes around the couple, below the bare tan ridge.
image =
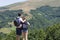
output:
[[[0, 28], [8, 28], [0, 29], [0, 40], [16, 40], [16, 30], [12, 26], [12, 21], [17, 17], [17, 13], [20, 12], [22, 10], [0, 11]], [[60, 40], [60, 7], [41, 6], [36, 10], [30, 10], [30, 14], [32, 18], [29, 20], [31, 23], [29, 40]]]

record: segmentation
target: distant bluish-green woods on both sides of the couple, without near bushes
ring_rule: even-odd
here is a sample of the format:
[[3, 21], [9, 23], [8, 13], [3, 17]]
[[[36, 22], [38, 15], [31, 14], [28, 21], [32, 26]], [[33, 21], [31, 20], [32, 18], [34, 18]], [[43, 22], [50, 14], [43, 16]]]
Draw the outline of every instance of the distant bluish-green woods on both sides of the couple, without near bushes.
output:
[[[12, 21], [17, 17], [17, 13], [20, 12], [22, 10], [6, 10], [0, 12], [0, 28], [12, 27]], [[30, 14], [32, 15], [32, 19], [29, 21], [32, 27], [46, 28], [60, 23], [60, 7], [42, 6], [36, 8], [36, 10], [31, 10]]]

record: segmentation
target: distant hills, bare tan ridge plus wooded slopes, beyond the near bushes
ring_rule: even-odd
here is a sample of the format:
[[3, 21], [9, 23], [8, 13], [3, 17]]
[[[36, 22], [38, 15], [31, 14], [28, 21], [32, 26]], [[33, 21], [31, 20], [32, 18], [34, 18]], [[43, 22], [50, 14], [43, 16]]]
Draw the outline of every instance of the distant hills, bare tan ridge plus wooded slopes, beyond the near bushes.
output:
[[0, 8], [0, 28], [12, 27], [11, 22], [23, 9], [34, 27], [47, 27], [60, 21], [60, 0], [28, 0]]

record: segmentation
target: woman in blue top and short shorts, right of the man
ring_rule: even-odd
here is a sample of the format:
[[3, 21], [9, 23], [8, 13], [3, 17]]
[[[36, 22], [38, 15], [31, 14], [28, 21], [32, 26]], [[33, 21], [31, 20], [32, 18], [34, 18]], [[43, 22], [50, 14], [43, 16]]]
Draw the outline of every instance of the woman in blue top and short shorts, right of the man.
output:
[[[23, 21], [26, 20], [25, 17], [22, 17]], [[23, 36], [23, 40], [28, 40], [28, 25], [30, 25], [29, 22], [27, 22], [27, 20], [23, 23], [23, 29], [22, 29], [22, 36]]]

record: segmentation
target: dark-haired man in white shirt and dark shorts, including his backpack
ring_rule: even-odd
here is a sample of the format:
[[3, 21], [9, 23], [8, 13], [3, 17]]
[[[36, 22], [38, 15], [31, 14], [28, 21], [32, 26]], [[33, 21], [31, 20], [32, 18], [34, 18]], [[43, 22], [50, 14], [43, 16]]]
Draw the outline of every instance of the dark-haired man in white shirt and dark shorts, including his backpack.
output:
[[14, 25], [16, 26], [16, 40], [20, 40], [20, 35], [22, 34], [22, 23], [26, 20], [22, 20], [21, 14], [18, 13], [18, 17], [14, 20]]

